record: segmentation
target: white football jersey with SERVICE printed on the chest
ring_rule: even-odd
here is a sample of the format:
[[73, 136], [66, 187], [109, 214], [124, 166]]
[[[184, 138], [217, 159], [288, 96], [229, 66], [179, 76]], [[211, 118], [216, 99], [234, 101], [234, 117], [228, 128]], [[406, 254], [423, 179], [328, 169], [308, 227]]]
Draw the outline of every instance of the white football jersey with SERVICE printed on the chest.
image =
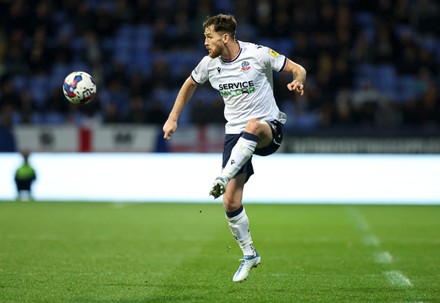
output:
[[239, 134], [251, 118], [285, 123], [273, 95], [273, 71], [282, 71], [287, 58], [274, 50], [238, 41], [240, 51], [230, 61], [219, 56], [205, 56], [192, 71], [192, 79], [203, 84], [207, 80], [220, 92], [225, 102], [227, 134]]

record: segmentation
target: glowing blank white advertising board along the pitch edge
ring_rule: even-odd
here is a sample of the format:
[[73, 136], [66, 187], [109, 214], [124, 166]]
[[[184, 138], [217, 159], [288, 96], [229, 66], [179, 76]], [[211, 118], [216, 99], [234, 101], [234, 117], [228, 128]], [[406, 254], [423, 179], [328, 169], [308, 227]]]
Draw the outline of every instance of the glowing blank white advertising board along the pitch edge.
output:
[[[0, 200], [13, 200], [18, 153], [0, 154]], [[33, 153], [36, 200], [212, 202], [218, 153]], [[440, 155], [255, 156], [246, 203], [440, 204]]]

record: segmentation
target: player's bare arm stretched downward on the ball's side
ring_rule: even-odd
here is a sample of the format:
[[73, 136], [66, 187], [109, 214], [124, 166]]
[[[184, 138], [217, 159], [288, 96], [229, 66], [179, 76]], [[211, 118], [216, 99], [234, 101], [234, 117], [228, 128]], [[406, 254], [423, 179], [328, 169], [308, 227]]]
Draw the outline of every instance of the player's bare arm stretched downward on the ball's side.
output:
[[179, 93], [177, 94], [176, 101], [174, 102], [173, 109], [168, 116], [167, 121], [163, 125], [163, 137], [164, 139], [169, 140], [171, 135], [177, 129], [177, 120], [179, 119], [180, 113], [182, 112], [185, 105], [189, 102], [194, 91], [197, 88], [197, 83], [191, 77], [188, 77], [186, 81], [183, 83], [180, 88]]

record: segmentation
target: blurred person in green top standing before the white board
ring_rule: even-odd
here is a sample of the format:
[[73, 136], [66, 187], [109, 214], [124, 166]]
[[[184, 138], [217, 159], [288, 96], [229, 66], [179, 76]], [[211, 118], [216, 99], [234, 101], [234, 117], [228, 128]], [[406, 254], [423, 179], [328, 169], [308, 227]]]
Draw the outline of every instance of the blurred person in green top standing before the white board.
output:
[[15, 184], [17, 186], [17, 201], [23, 200], [24, 194], [27, 198], [33, 201], [32, 183], [37, 179], [35, 169], [29, 163], [29, 152], [22, 152], [23, 163], [17, 168], [15, 172]]

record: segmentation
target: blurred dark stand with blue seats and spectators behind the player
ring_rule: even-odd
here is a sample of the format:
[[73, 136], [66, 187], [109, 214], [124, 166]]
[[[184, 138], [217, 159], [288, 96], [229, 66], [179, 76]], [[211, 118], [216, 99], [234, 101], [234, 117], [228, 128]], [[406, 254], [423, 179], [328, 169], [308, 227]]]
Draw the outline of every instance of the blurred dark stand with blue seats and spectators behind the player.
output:
[[[239, 39], [308, 70], [303, 97], [276, 75], [289, 134], [437, 136], [439, 9], [433, 0], [3, 0], [1, 116], [12, 126], [162, 125], [206, 54], [202, 21], [225, 12], [236, 16]], [[89, 106], [62, 95], [72, 70], [98, 82]], [[222, 101], [208, 86], [180, 121], [207, 124], [223, 124]]]

